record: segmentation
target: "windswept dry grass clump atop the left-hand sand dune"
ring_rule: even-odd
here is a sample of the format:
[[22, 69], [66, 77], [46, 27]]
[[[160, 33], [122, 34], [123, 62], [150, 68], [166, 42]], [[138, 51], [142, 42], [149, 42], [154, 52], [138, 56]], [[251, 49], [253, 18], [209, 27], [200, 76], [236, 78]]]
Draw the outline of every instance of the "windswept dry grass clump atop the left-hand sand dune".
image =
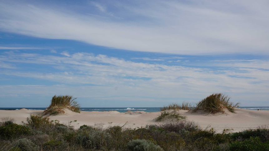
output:
[[64, 109], [69, 109], [73, 112], [80, 113], [80, 105], [75, 101], [76, 98], [72, 96], [54, 96], [51, 99], [51, 105], [44, 111], [44, 115], [57, 115], [64, 113]]

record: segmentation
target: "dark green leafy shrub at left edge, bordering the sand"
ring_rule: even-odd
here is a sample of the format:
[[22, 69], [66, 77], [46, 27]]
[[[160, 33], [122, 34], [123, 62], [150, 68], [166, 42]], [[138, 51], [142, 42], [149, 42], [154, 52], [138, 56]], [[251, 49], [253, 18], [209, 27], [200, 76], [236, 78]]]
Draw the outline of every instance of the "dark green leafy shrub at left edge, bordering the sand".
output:
[[25, 125], [8, 124], [0, 127], [0, 138], [11, 139], [18, 136], [29, 135], [30, 129]]

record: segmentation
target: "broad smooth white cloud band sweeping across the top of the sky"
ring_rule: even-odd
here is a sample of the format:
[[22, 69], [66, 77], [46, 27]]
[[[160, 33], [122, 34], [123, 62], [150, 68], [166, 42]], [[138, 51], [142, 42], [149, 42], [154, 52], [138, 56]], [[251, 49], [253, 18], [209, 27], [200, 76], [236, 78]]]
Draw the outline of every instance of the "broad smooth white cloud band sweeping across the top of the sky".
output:
[[268, 4], [264, 1], [255, 5], [248, 1], [102, 1], [91, 4], [100, 12], [122, 19], [85, 15], [95, 13], [90, 8], [89, 12], [75, 13], [68, 11], [68, 7], [59, 10], [38, 3], [2, 1], [0, 14], [6, 15], [0, 16], [0, 30], [80, 40], [123, 50], [173, 54], [255, 51], [268, 55]]

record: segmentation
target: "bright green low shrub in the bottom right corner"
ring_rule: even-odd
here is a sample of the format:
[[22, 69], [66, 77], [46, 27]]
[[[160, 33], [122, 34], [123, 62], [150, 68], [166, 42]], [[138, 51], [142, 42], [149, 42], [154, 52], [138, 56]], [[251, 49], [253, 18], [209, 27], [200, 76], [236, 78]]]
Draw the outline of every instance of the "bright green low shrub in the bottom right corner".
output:
[[241, 150], [269, 150], [269, 141], [262, 143], [259, 137], [250, 137], [244, 141], [235, 141], [229, 144], [229, 149], [233, 151]]

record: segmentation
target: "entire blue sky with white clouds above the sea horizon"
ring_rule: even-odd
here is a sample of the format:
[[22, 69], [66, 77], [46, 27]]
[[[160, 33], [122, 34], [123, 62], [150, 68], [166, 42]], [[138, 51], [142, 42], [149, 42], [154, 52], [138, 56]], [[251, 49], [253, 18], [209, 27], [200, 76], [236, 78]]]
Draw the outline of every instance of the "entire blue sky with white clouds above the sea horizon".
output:
[[269, 106], [267, 0], [1, 0], [0, 107]]

